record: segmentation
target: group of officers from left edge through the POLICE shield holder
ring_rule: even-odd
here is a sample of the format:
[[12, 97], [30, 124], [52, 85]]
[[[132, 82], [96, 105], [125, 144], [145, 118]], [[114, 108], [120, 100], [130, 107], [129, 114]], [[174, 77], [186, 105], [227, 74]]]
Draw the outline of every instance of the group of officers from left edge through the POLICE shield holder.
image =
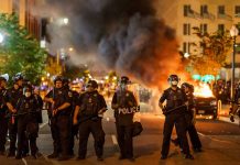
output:
[[[54, 88], [44, 100], [33, 92], [33, 87], [17, 74], [13, 87], [7, 89], [8, 78], [0, 76], [0, 155], [20, 160], [31, 152], [37, 158], [39, 124], [42, 123], [43, 101], [48, 103], [48, 124], [53, 139], [53, 153], [48, 158], [66, 161], [74, 156], [74, 139], [78, 135], [77, 160], [85, 160], [87, 142], [91, 133], [98, 161], [103, 161], [105, 132], [101, 119], [107, 111], [105, 98], [97, 91], [98, 84], [89, 80], [86, 91], [78, 94], [68, 87], [68, 79], [57, 76]], [[114, 110], [119, 160], [133, 158], [133, 114], [138, 107], [135, 97], [127, 89], [129, 78], [121, 77], [120, 88], [114, 92], [111, 107]], [[124, 110], [122, 110], [124, 109]], [[9, 132], [10, 147], [6, 153]], [[17, 144], [18, 140], [18, 144]]]

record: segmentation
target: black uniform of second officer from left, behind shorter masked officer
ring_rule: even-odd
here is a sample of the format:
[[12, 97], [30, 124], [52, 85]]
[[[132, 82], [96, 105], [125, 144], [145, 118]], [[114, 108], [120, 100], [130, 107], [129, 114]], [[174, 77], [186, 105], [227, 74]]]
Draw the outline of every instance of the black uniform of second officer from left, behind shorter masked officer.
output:
[[[13, 106], [13, 108], [15, 108], [19, 98], [21, 98], [22, 96], [23, 96], [22, 87], [19, 87], [18, 89], [12, 87], [8, 90], [7, 102], [10, 102]], [[15, 147], [17, 133], [18, 133], [18, 119], [13, 117], [10, 112], [10, 118], [9, 118], [10, 154], [9, 155], [13, 155], [13, 156], [15, 155], [15, 148], [17, 148]]]

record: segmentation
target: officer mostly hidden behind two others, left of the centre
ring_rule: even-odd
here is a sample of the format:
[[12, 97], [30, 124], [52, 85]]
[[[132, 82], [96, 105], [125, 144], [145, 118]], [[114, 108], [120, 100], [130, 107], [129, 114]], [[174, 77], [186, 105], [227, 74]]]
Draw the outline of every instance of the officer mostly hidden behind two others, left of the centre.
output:
[[68, 78], [64, 78], [63, 79], [63, 86], [64, 86], [64, 89], [67, 92], [73, 94], [73, 95], [69, 95], [70, 101], [72, 101], [69, 155], [74, 156], [74, 143], [75, 143], [74, 142], [75, 141], [74, 138], [77, 136], [77, 134], [78, 134], [78, 125], [77, 124], [76, 125], [73, 124], [73, 118], [74, 118], [75, 107], [76, 107], [77, 100], [79, 98], [79, 94], [77, 91], [70, 90]]

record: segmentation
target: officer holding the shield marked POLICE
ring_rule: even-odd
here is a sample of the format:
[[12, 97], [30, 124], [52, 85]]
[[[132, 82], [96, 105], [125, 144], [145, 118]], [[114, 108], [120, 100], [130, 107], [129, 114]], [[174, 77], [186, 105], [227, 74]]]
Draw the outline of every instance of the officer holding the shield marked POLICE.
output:
[[127, 89], [129, 78], [122, 76], [120, 88], [113, 95], [111, 108], [114, 110], [118, 144], [120, 147], [119, 160], [128, 158], [134, 161], [132, 131], [133, 131], [133, 108], [138, 106], [134, 95]]

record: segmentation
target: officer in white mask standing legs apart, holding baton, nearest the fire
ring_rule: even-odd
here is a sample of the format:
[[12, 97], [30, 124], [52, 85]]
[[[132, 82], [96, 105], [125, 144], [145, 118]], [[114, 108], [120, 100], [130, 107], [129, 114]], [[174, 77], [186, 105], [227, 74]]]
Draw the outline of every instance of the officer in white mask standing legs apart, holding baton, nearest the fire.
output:
[[[173, 127], [175, 125], [177, 135], [183, 145], [183, 152], [185, 158], [193, 160], [194, 157], [189, 153], [189, 146], [186, 136], [186, 121], [185, 111], [187, 105], [186, 94], [177, 87], [179, 78], [177, 75], [171, 75], [168, 77], [171, 87], [164, 90], [162, 97], [160, 98], [159, 106], [163, 113], [166, 116], [163, 130], [163, 144], [162, 144], [162, 156], [161, 160], [167, 158], [170, 151], [170, 141]], [[166, 107], [163, 107], [163, 102], [166, 100]]]

